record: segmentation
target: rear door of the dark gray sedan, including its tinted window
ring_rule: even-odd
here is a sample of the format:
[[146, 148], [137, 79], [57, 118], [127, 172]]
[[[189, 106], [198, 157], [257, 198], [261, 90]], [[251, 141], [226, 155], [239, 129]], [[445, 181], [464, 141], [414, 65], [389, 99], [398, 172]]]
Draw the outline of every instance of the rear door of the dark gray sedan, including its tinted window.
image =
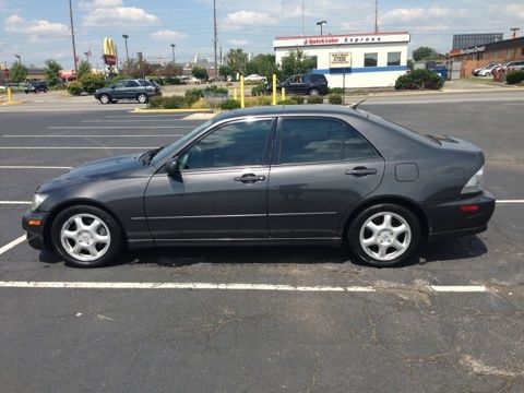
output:
[[380, 184], [384, 160], [355, 129], [329, 117], [281, 118], [267, 190], [272, 238], [333, 239]]

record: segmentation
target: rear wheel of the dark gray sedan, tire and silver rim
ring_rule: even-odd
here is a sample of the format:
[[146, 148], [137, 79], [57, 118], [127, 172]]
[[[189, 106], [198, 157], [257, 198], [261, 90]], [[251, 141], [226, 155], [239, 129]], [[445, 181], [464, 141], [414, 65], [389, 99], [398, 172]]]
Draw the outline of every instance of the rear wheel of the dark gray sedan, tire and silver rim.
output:
[[420, 223], [412, 211], [385, 203], [360, 212], [349, 225], [347, 241], [358, 262], [391, 267], [413, 258], [420, 245]]

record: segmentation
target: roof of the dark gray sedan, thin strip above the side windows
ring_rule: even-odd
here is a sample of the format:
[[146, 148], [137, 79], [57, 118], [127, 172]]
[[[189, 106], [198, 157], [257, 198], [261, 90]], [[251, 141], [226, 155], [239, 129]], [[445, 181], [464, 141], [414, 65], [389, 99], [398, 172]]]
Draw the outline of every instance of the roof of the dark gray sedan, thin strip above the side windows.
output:
[[236, 109], [223, 112], [215, 117], [215, 121], [222, 121], [230, 118], [247, 117], [247, 116], [274, 116], [274, 115], [343, 115], [356, 116], [359, 118], [368, 117], [364, 110], [354, 109], [341, 105], [274, 105], [261, 106], [245, 109]]

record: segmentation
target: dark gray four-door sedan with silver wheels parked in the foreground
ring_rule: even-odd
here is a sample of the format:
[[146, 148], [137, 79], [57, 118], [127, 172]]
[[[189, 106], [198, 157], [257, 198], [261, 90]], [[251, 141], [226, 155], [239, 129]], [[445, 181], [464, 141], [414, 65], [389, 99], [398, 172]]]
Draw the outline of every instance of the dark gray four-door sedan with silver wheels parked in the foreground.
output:
[[90, 163], [39, 187], [29, 245], [99, 266], [122, 248], [348, 245], [376, 266], [422, 240], [486, 230], [484, 154], [338, 106], [216, 116], [172, 144]]

